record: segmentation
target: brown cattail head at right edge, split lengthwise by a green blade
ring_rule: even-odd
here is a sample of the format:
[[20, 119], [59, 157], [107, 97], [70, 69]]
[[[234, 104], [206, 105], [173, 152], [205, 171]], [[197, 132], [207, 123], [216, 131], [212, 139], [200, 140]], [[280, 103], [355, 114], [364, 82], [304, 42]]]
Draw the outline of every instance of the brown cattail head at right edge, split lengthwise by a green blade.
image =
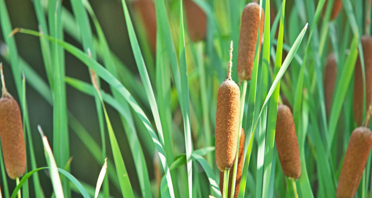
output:
[[[371, 104], [372, 94], [372, 37], [365, 35], [361, 39], [363, 46], [364, 66], [366, 72], [366, 112]], [[354, 119], [358, 126], [363, 122], [363, 76], [360, 57], [355, 63], [354, 77]]]

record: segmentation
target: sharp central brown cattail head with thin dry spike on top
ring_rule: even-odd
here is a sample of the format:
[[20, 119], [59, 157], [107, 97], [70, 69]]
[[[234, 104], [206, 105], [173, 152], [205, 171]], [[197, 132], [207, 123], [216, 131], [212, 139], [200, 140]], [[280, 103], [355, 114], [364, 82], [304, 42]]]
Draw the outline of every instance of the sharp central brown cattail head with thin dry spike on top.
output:
[[237, 152], [240, 90], [231, 79], [232, 51], [233, 42], [230, 48], [229, 71], [217, 93], [215, 152], [220, 171], [231, 168]]

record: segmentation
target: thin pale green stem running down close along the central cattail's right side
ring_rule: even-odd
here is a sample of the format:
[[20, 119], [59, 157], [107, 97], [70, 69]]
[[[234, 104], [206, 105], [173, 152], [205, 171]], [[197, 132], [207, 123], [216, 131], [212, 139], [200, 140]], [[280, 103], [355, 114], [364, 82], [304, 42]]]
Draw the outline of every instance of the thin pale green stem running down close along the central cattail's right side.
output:
[[[241, 93], [243, 93], [240, 97], [240, 113], [239, 113], [239, 130], [242, 129], [242, 125], [243, 125], [243, 114], [244, 114], [244, 104], [246, 103], [246, 94], [247, 94], [247, 86], [248, 86], [248, 81], [247, 80], [244, 80], [243, 81], [243, 86], [242, 86], [242, 91]], [[239, 147], [240, 147], [240, 138], [241, 138], [241, 135], [242, 133], [238, 133], [238, 144], [237, 144], [237, 154], [235, 156], [239, 156]], [[235, 193], [235, 188], [233, 188], [236, 184], [236, 180], [237, 180], [237, 170], [238, 170], [238, 157], [235, 157], [235, 161], [234, 161], [234, 169], [233, 169], [233, 180], [232, 180], [232, 188], [231, 188], [231, 195], [230, 197], [233, 198], [234, 197], [234, 193]]]

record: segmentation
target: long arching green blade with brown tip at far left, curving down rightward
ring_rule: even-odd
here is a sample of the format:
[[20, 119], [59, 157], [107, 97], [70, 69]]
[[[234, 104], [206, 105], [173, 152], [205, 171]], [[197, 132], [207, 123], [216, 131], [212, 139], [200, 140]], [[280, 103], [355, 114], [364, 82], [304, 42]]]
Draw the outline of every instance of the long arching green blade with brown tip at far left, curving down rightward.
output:
[[[32, 31], [32, 30], [19, 29], [19, 32], [31, 34], [31, 35], [34, 35], [34, 36], [40, 36], [40, 34], [38, 32]], [[44, 36], [51, 41], [55, 41], [55, 39], [50, 37], [50, 36], [47, 36], [47, 35], [44, 35]], [[57, 40], [57, 43], [59, 45], [61, 45], [65, 50], [67, 50], [70, 53], [72, 53], [73, 55], [75, 55], [78, 59], [80, 59], [88, 67], [92, 68], [97, 73], [97, 75], [99, 75], [103, 80], [105, 80], [111, 86], [113, 86], [126, 99], [126, 101], [130, 104], [130, 106], [133, 108], [133, 110], [139, 116], [139, 118], [141, 119], [143, 124], [146, 126], [146, 129], [148, 130], [150, 136], [153, 139], [155, 147], [158, 150], [158, 153], [159, 153], [160, 160], [162, 162], [164, 171], [165, 171], [167, 177], [169, 177], [169, 180], [172, 181], [171, 178], [170, 178], [169, 168], [168, 168], [166, 158], [165, 158], [164, 148], [163, 148], [162, 144], [159, 142], [159, 139], [158, 139], [157, 135], [155, 134], [155, 131], [152, 128], [149, 119], [147, 118], [147, 116], [145, 115], [143, 110], [138, 106], [137, 102], [130, 95], [128, 90], [126, 90], [126, 88], [119, 82], [119, 80], [116, 79], [110, 72], [108, 72], [101, 64], [99, 64], [97, 61], [89, 58], [89, 56], [87, 54], [85, 54], [84, 52], [82, 52], [81, 50], [77, 49], [76, 47], [74, 47], [74, 46], [72, 46], [68, 43], [60, 41], [60, 40]], [[170, 184], [168, 184], [168, 185], [170, 185]]]

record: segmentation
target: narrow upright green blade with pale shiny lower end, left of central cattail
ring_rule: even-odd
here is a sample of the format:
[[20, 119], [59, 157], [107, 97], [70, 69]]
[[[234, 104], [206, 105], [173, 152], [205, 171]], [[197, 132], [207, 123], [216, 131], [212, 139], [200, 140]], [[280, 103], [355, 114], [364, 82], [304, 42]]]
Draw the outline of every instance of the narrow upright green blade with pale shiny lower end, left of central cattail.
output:
[[190, 99], [188, 91], [188, 79], [186, 75], [186, 49], [185, 49], [185, 35], [184, 35], [184, 15], [183, 15], [183, 0], [180, 1], [180, 74], [181, 74], [181, 110], [184, 118], [184, 133], [186, 146], [186, 160], [187, 160], [187, 179], [188, 179], [188, 197], [192, 197], [192, 142], [191, 142], [191, 126], [190, 126]]

